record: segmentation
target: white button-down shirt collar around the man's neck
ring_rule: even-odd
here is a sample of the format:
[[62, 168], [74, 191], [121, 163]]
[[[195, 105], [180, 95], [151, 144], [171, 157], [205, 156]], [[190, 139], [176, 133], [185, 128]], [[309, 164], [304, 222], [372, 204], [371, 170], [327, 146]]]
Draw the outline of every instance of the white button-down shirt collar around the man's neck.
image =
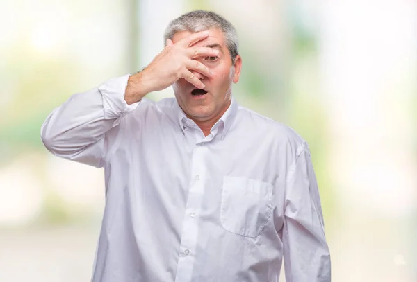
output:
[[[231, 125], [234, 122], [234, 119], [236, 118], [237, 112], [238, 112], [238, 103], [236, 102], [236, 100], [232, 96], [231, 103], [230, 103], [229, 107], [227, 108], [226, 112], [224, 112], [222, 117], [213, 125], [213, 129], [215, 127], [219, 127], [218, 128], [218, 134], [220, 134], [222, 136], [222, 138], [224, 138], [226, 133], [229, 131]], [[179, 124], [179, 127], [181, 127], [181, 130], [182, 130], [183, 134], [185, 134], [185, 131], [184, 131], [185, 123], [184, 123], [184, 121], [186, 121], [186, 119], [188, 119], [188, 118], [187, 118], [186, 114], [184, 114], [181, 107], [179, 107], [177, 99], [175, 99], [175, 102], [174, 102], [174, 114], [177, 118], [177, 122]]]

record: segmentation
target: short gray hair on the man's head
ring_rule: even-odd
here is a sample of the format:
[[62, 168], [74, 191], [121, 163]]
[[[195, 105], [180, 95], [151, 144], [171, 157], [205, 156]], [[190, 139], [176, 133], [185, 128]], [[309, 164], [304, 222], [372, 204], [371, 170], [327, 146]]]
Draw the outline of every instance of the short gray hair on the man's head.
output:
[[164, 39], [165, 42], [167, 39], [172, 40], [174, 34], [179, 31], [197, 33], [198, 31], [208, 30], [211, 28], [218, 28], [222, 31], [227, 49], [229, 49], [231, 62], [234, 64], [235, 58], [239, 54], [238, 34], [236, 33], [234, 26], [227, 21], [227, 19], [224, 19], [224, 17], [216, 14], [215, 12], [197, 10], [181, 15], [181, 17], [172, 20], [170, 24], [168, 24], [165, 29]]

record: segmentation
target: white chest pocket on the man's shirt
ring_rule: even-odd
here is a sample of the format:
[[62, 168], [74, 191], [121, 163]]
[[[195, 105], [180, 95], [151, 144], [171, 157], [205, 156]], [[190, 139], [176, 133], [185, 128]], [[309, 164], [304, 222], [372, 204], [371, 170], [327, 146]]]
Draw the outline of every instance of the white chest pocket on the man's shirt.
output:
[[243, 177], [225, 176], [220, 222], [231, 233], [259, 236], [272, 213], [272, 184]]

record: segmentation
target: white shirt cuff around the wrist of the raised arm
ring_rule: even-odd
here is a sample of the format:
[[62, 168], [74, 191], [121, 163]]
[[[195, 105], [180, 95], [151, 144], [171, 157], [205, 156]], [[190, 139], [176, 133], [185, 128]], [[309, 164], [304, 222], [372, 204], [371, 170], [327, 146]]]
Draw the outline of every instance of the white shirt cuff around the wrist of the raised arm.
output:
[[127, 105], [126, 100], [124, 100], [124, 92], [126, 91], [129, 76], [130, 74], [128, 73], [124, 76], [111, 78], [99, 86], [99, 91], [103, 98], [104, 118], [120, 119], [138, 107], [140, 102]]

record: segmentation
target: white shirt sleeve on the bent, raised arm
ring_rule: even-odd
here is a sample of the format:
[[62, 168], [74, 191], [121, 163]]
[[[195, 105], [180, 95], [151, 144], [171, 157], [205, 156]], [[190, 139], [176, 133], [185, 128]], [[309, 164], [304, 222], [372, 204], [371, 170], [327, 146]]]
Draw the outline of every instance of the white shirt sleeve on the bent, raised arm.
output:
[[104, 166], [120, 133], [120, 120], [138, 105], [124, 100], [128, 79], [129, 74], [112, 78], [54, 109], [42, 124], [44, 146], [58, 157]]

